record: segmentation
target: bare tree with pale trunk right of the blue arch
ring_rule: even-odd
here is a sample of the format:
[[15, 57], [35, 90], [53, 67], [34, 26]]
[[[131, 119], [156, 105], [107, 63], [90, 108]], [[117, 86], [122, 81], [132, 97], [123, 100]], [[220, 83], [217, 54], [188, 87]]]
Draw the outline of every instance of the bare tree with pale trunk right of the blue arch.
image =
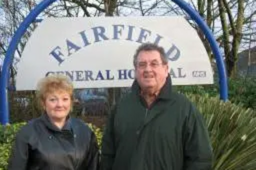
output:
[[[198, 0], [197, 9], [199, 14], [206, 18], [206, 22], [211, 30], [215, 33], [225, 56], [226, 68], [229, 77], [236, 76], [238, 52], [242, 47], [248, 47], [248, 25], [254, 25], [256, 14], [254, 1], [226, 1], [226, 0]], [[254, 8], [254, 10], [252, 10]], [[254, 23], [253, 23], [254, 22]], [[220, 25], [220, 29], [217, 28]], [[208, 54], [208, 42], [203, 39]], [[212, 58], [211, 58], [212, 59]]]

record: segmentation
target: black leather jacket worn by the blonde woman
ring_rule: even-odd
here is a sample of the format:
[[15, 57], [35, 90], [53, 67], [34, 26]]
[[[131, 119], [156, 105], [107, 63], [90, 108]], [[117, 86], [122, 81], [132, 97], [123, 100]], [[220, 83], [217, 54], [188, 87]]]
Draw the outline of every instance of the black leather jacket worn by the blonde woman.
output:
[[69, 118], [59, 130], [43, 114], [17, 133], [8, 169], [96, 170], [98, 157], [95, 135], [81, 120]]

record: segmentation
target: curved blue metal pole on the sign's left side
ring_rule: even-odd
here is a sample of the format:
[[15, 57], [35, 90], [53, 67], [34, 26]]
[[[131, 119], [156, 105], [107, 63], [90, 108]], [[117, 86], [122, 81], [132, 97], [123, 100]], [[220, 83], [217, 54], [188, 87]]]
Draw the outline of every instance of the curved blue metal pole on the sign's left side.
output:
[[[56, 0], [42, 0], [24, 19], [21, 23], [17, 31], [15, 32], [8, 50], [6, 52], [3, 68], [2, 68], [2, 76], [0, 77], [0, 120], [1, 124], [6, 125], [9, 123], [9, 106], [8, 106], [8, 84], [9, 84], [9, 72], [10, 66], [13, 61], [13, 56], [15, 50], [18, 46], [18, 43], [24, 33], [26, 33], [27, 28], [30, 24], [35, 20], [35, 18], [45, 10], [49, 5], [54, 3]], [[26, 81], [26, 80], [24, 80]]]

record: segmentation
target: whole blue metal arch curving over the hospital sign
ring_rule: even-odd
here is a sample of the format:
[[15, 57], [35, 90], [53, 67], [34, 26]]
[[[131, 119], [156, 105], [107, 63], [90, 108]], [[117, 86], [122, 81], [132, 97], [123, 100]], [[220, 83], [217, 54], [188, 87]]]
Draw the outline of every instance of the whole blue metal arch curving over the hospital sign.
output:
[[[9, 123], [9, 105], [8, 105], [8, 81], [9, 81], [9, 74], [10, 74], [10, 65], [13, 61], [13, 56], [17, 45], [25, 34], [27, 28], [30, 24], [35, 21], [36, 17], [45, 10], [48, 6], [54, 3], [57, 0], [43, 0], [39, 3], [24, 19], [22, 24], [19, 26], [17, 31], [15, 32], [10, 45], [8, 47], [6, 57], [4, 60], [4, 65], [2, 68], [2, 74], [0, 77], [0, 121], [3, 125]], [[226, 77], [226, 69], [224, 65], [224, 61], [222, 59], [218, 44], [212, 35], [210, 29], [201, 18], [201, 16], [195, 11], [193, 8], [189, 6], [189, 4], [185, 3], [183, 0], [172, 0], [176, 3], [180, 8], [186, 11], [192, 19], [196, 21], [200, 29], [204, 32], [207, 40], [210, 43], [212, 52], [214, 53], [217, 61], [217, 67], [219, 71], [219, 78], [220, 78], [220, 98], [224, 101], [228, 98], [228, 88], [227, 88], [227, 77]]]

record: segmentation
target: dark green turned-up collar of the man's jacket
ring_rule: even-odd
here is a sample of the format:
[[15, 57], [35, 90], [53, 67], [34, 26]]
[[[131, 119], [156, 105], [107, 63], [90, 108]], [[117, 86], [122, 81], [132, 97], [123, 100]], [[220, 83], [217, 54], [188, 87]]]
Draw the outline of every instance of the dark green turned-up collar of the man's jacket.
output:
[[[137, 80], [134, 80], [133, 85], [132, 85], [132, 92], [134, 92], [137, 95], [140, 95], [140, 86]], [[166, 81], [161, 88], [157, 99], [165, 99], [169, 100], [172, 98], [172, 79], [170, 78], [170, 75], [168, 74]]]

